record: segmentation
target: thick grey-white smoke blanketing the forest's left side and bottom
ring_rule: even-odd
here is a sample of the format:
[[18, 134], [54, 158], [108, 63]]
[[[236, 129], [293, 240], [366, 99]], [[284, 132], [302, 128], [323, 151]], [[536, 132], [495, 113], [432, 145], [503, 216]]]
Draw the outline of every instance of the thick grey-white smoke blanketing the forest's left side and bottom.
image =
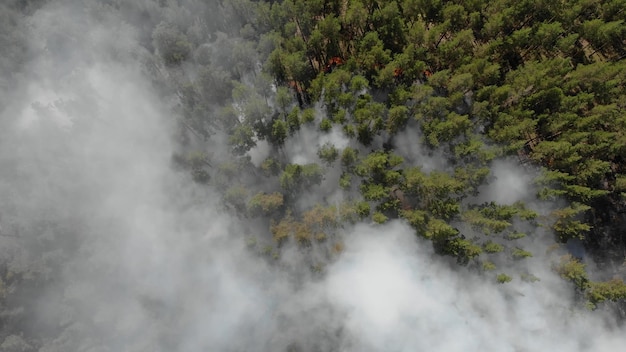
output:
[[[105, 3], [52, 1], [20, 18], [24, 60], [2, 66], [2, 275], [30, 272], [45, 283], [26, 285], [12, 310], [3, 307], [0, 350], [617, 351], [626, 344], [610, 317], [575, 304], [571, 287], [545, 269], [545, 250], [527, 264], [539, 281], [507, 285], [451, 266], [401, 221], [345, 228], [345, 251], [319, 275], [290, 260], [290, 249], [277, 263], [261, 258], [246, 239], [266, 230], [250, 233], [223, 211], [216, 190], [171, 166], [175, 101], [161, 99], [147, 78], [140, 44], [147, 22], [175, 16], [148, 1], [137, 8], [157, 17]], [[290, 157], [308, 161], [329, 138], [343, 143], [316, 133], [303, 129], [311, 148], [294, 147]], [[418, 150], [410, 133], [398, 137], [398, 150]], [[439, 167], [428, 160], [427, 168]], [[477, 202], [527, 197], [530, 178], [511, 171], [514, 163], [496, 167], [497, 181]], [[529, 241], [540, 247], [549, 239]]]

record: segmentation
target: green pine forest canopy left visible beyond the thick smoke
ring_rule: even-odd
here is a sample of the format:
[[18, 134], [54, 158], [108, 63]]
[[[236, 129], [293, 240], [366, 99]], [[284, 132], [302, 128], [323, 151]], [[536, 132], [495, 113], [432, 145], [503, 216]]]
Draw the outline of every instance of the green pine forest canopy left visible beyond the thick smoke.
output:
[[[218, 6], [236, 21], [204, 32], [166, 16], [147, 48], [179, 105], [175, 165], [217, 186], [230, 211], [271, 218], [279, 247], [342, 243], [342, 224], [401, 218], [437, 253], [485, 271], [531, 257], [524, 244], [541, 231], [622, 262], [610, 248], [626, 211], [622, 3], [535, 5], [242, 0]], [[316, 145], [319, 164], [299, 164], [285, 146], [310, 133], [333, 142]], [[222, 139], [230, 149], [214, 166], [202, 143]], [[252, 165], [259, 141], [272, 156]], [[558, 207], [540, 216], [482, 200], [503, 158], [540, 170], [537, 195]], [[344, 203], [330, 204], [325, 177]], [[301, 204], [322, 188], [320, 203]], [[623, 296], [572, 258], [555, 270], [593, 304]]]

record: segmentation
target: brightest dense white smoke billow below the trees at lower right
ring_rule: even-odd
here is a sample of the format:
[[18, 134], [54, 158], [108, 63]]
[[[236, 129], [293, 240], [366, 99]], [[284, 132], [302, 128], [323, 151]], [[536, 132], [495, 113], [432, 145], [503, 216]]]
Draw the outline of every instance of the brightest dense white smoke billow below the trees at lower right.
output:
[[507, 285], [448, 267], [400, 222], [357, 227], [328, 275], [354, 351], [604, 351], [620, 329], [550, 271]]

